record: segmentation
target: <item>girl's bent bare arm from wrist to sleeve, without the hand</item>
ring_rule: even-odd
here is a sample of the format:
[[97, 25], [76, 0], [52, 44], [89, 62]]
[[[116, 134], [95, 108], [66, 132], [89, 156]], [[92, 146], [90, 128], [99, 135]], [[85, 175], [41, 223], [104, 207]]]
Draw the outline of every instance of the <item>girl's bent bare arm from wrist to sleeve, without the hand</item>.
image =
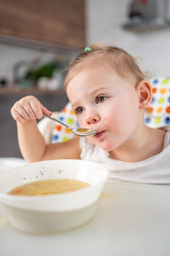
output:
[[80, 159], [79, 137], [65, 143], [45, 144], [35, 120], [26, 124], [17, 122], [20, 152], [29, 161]]

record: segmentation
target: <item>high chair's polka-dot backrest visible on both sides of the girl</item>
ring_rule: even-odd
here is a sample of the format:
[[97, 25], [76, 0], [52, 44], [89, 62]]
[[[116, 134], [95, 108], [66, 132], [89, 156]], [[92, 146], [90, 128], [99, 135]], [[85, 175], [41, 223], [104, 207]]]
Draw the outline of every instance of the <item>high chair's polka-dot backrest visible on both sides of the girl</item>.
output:
[[[170, 77], [156, 77], [149, 80], [152, 87], [152, 101], [144, 113], [144, 122], [151, 128], [160, 128], [170, 125]], [[71, 110], [68, 102], [60, 112], [54, 112], [57, 118], [67, 125], [78, 127], [76, 114]], [[38, 123], [46, 143], [65, 142], [74, 134], [62, 125], [56, 125], [54, 121], [47, 118]]]

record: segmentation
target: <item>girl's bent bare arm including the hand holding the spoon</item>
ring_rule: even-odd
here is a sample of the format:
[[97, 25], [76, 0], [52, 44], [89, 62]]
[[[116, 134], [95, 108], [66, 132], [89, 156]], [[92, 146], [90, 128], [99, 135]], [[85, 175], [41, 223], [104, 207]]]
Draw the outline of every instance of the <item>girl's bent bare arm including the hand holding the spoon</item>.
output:
[[29, 161], [80, 159], [79, 137], [65, 143], [46, 144], [38, 130], [36, 119], [43, 113], [51, 114], [34, 96], [26, 96], [11, 109], [17, 121], [18, 140], [23, 157]]

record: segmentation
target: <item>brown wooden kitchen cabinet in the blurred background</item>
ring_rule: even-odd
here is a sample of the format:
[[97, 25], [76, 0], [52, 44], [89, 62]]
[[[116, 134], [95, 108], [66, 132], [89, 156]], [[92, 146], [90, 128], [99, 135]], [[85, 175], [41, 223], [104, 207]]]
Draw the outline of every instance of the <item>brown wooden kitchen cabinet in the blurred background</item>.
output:
[[83, 49], [85, 0], [1, 0], [0, 24], [3, 41], [9, 36], [16, 44], [23, 39], [20, 44]]

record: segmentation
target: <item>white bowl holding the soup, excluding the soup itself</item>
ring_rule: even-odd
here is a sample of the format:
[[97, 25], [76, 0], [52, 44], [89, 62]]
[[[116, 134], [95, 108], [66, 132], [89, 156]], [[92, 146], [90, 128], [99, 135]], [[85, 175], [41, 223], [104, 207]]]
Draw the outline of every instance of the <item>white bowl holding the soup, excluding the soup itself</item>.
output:
[[[98, 163], [84, 160], [48, 160], [18, 166], [0, 173], [0, 202], [10, 223], [32, 232], [59, 232], [75, 228], [92, 218], [108, 171]], [[7, 195], [10, 189], [42, 179], [71, 178], [91, 186], [58, 195]]]

